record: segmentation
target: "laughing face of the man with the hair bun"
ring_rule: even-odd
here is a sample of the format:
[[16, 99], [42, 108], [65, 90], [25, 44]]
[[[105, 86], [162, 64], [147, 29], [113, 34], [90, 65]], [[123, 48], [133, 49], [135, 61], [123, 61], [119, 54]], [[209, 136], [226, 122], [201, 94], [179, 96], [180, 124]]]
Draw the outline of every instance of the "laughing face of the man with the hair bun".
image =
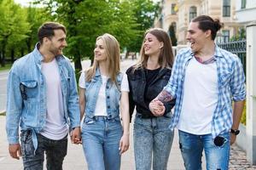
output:
[[186, 39], [190, 43], [190, 48], [194, 53], [198, 53], [204, 48], [207, 41], [211, 40], [211, 31], [199, 29], [199, 22], [190, 22]]

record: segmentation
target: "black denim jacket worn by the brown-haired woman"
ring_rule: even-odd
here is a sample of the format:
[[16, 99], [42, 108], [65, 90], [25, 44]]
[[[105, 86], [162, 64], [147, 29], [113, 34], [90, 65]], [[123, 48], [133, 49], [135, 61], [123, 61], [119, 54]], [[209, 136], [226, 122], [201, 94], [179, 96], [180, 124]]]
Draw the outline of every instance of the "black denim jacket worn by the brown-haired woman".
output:
[[[154, 117], [154, 115], [149, 110], [148, 105], [144, 99], [145, 86], [146, 86], [146, 71], [142, 67], [137, 68], [133, 72], [134, 66], [131, 66], [127, 71], [127, 77], [130, 87], [129, 93], [129, 105], [130, 105], [130, 117], [134, 111], [135, 105], [138, 113], [142, 114], [145, 118]], [[169, 78], [171, 77], [172, 70], [168, 68], [163, 68], [160, 70], [158, 76], [155, 78], [154, 82], [148, 86], [148, 91], [150, 91], [151, 96], [148, 98], [154, 99], [162, 89], [166, 86]], [[172, 107], [175, 105], [175, 99], [171, 102], [165, 103], [166, 113], [171, 112]], [[131, 119], [130, 119], [131, 120]]]

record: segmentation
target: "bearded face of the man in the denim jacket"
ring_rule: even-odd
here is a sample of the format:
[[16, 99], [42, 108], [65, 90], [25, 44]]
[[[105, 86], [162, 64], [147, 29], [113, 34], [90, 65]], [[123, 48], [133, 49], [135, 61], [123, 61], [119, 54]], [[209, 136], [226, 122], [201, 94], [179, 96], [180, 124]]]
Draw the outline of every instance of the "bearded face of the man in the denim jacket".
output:
[[[55, 35], [53, 37], [48, 38], [48, 50], [51, 54], [59, 55], [62, 54], [63, 48], [67, 47], [66, 42], [66, 34], [61, 29], [55, 30]], [[47, 37], [45, 37], [47, 38]]]

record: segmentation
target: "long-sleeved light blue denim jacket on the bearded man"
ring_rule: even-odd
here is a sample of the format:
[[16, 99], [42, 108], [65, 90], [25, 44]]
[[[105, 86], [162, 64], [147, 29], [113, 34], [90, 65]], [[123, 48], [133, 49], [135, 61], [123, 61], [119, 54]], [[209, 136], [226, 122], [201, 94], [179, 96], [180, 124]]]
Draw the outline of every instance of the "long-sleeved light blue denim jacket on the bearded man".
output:
[[[9, 72], [7, 85], [6, 132], [9, 144], [19, 143], [21, 130], [32, 129], [35, 150], [38, 142], [36, 133], [44, 129], [46, 121], [46, 82], [41, 71], [44, 57], [38, 44], [30, 54], [15, 61]], [[64, 115], [70, 128], [79, 127], [79, 96], [73, 67], [64, 56], [56, 61], [61, 75], [61, 91]]]

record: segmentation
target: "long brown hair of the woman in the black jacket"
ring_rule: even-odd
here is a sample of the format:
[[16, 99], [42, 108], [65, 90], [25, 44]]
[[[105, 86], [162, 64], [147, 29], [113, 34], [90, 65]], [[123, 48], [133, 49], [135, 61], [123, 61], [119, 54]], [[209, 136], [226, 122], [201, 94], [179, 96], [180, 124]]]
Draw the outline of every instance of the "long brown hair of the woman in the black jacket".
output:
[[[158, 39], [158, 41], [163, 42], [164, 46], [160, 50], [160, 56], [158, 59], [158, 62], [161, 66], [161, 68], [172, 68], [173, 65], [173, 54], [172, 54], [172, 42], [170, 40], [170, 37], [168, 36], [167, 32], [164, 31], [163, 29], [160, 28], [151, 28], [148, 31], [145, 32], [144, 38], [146, 35], [150, 33], [154, 35]], [[148, 62], [148, 55], [145, 54], [144, 50], [144, 41], [142, 44], [142, 48], [140, 51], [140, 59], [137, 62], [137, 65], [135, 65], [134, 70], [136, 70], [138, 67], [147, 67], [147, 62]]]

